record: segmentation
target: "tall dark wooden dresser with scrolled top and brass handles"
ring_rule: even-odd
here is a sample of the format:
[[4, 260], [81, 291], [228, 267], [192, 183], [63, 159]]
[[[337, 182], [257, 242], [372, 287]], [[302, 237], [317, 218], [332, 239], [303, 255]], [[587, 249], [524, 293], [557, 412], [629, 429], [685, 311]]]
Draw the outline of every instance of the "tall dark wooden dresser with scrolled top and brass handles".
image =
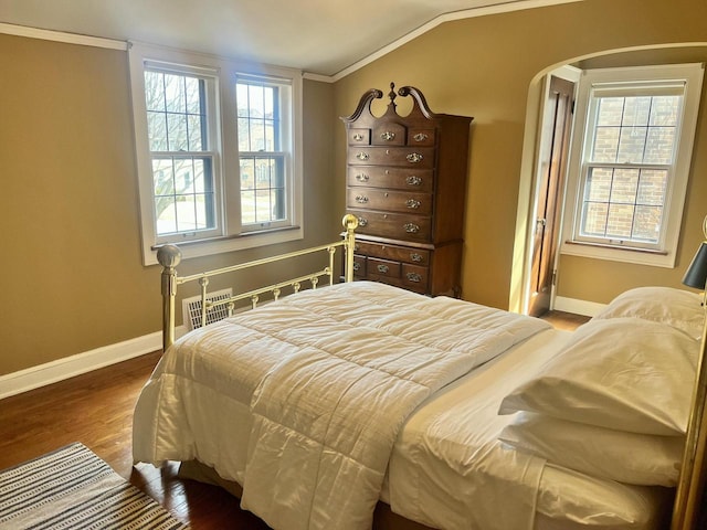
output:
[[[358, 218], [355, 277], [425, 295], [461, 295], [464, 204], [473, 118], [434, 114], [403, 86], [376, 117], [370, 89], [342, 117], [348, 137], [347, 212]], [[399, 116], [395, 97], [412, 97]]]

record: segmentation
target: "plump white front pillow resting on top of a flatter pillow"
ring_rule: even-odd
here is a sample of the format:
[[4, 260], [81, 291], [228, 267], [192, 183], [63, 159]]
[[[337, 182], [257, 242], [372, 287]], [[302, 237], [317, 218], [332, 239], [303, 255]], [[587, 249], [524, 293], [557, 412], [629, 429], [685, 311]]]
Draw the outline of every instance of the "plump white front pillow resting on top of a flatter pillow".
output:
[[685, 434], [699, 342], [637, 318], [592, 320], [499, 414], [529, 411], [632, 433]]

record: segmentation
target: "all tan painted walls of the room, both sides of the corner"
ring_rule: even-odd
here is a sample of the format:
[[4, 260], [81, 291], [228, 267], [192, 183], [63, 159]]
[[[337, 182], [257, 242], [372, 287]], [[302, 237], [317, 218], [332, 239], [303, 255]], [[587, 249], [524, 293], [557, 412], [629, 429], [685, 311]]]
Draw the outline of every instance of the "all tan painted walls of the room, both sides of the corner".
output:
[[[707, 42], [705, 20], [704, 0], [584, 0], [449, 22], [334, 85], [306, 81], [305, 241], [192, 259], [181, 269], [336, 237], [345, 195], [338, 116], [354, 112], [368, 88], [388, 92], [393, 81], [421, 88], [437, 113], [475, 117], [464, 297], [508, 307], [534, 76], [612, 49]], [[126, 53], [9, 35], [0, 35], [0, 212], [8, 225], [0, 240], [1, 375], [158, 331], [160, 301], [159, 268], [141, 265]], [[679, 271], [566, 258], [560, 295], [602, 303], [635, 284], [678, 282], [707, 213], [701, 116], [698, 127]]]

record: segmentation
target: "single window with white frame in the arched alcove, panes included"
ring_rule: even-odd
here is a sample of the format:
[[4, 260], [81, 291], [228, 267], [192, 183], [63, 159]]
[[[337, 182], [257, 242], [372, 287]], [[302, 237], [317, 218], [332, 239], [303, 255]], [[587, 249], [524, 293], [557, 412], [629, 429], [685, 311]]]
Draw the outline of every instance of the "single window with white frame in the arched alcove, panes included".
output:
[[701, 77], [701, 65], [584, 73], [563, 253], [674, 266]]

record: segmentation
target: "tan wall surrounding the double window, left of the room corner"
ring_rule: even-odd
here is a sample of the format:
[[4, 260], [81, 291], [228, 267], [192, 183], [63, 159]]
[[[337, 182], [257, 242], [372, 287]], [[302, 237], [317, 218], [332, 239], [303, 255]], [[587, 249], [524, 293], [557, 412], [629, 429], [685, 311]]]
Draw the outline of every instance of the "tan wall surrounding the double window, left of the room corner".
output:
[[[0, 34], [0, 72], [1, 377], [159, 331], [161, 306], [140, 254], [127, 53]], [[306, 240], [183, 274], [337, 237], [333, 87], [306, 81], [304, 98]]]

